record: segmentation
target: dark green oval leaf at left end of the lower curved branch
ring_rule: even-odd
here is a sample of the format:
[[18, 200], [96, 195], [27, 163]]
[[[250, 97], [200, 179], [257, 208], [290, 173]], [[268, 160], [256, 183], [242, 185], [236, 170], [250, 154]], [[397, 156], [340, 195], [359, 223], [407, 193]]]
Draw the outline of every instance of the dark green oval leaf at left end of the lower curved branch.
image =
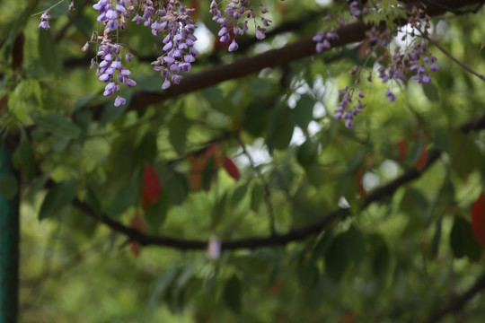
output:
[[60, 208], [69, 205], [77, 194], [75, 178], [55, 184], [49, 188], [48, 194], [40, 206], [39, 220], [44, 220], [55, 214]]

